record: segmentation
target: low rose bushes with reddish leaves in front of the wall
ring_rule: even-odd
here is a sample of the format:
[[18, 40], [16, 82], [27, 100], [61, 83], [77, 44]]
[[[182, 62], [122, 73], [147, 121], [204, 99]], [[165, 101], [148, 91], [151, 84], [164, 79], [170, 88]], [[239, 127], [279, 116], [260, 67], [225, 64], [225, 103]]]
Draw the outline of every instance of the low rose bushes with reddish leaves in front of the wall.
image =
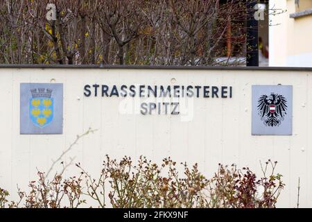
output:
[[[107, 207], [105, 198], [116, 208], [123, 207], [275, 207], [284, 183], [275, 174], [277, 162], [268, 160], [257, 178], [249, 168], [236, 169], [219, 164], [211, 179], [198, 170], [198, 164], [188, 167], [170, 157], [158, 165], [146, 157], [134, 164], [130, 157], [121, 161], [107, 155], [98, 178], [92, 178], [81, 166], [79, 176], [65, 179], [55, 174], [51, 181], [38, 172], [39, 179], [29, 183], [30, 191], [20, 191], [19, 201], [8, 207]], [[268, 172], [270, 170], [270, 172]], [[105, 192], [106, 191], [106, 192]], [[6, 207], [8, 192], [0, 189], [0, 207]], [[97, 204], [87, 205], [87, 198]]]

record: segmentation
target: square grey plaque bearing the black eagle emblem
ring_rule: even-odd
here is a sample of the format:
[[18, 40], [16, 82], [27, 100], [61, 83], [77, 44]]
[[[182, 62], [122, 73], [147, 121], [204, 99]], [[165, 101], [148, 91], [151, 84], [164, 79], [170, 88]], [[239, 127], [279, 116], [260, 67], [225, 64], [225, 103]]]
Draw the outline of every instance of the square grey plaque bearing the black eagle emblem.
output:
[[252, 135], [293, 134], [293, 86], [252, 85]]

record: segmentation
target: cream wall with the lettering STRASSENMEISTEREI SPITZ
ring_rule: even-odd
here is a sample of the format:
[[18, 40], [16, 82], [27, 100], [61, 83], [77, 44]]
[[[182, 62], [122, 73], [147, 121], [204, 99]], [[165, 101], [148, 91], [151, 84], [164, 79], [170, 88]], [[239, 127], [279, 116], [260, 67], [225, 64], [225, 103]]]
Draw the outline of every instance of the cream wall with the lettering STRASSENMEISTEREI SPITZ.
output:
[[[66, 148], [91, 127], [97, 129], [64, 157], [98, 175], [105, 154], [153, 161], [171, 156], [198, 162], [207, 176], [218, 163], [250, 167], [261, 176], [259, 161], [277, 160], [286, 187], [279, 207], [295, 207], [300, 178], [300, 207], [312, 207], [312, 71], [171, 70], [171, 69], [0, 69], [0, 187], [17, 198], [36, 168], [47, 171]], [[63, 83], [62, 135], [19, 134], [19, 84]], [[83, 96], [85, 84], [229, 85], [231, 99], [195, 98], [193, 118], [182, 115], [125, 114], [122, 98]], [[252, 85], [293, 85], [293, 135], [252, 136]], [[57, 164], [59, 169], [60, 165]], [[75, 166], [65, 176], [78, 173]]]

